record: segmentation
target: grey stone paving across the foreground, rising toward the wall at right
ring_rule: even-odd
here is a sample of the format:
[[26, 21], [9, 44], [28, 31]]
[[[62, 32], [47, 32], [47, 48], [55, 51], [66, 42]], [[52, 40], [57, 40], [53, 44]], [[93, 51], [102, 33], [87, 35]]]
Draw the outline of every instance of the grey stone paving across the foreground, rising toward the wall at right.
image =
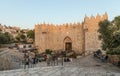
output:
[[34, 68], [1, 71], [0, 76], [120, 76], [120, 69], [90, 56], [58, 66], [39, 63]]

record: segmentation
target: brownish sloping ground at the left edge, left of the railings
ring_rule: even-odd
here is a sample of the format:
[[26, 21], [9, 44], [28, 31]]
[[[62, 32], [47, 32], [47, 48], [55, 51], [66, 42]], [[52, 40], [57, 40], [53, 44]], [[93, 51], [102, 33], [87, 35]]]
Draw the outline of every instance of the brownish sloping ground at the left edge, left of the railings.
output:
[[17, 69], [23, 60], [23, 53], [16, 49], [0, 49], [0, 70]]

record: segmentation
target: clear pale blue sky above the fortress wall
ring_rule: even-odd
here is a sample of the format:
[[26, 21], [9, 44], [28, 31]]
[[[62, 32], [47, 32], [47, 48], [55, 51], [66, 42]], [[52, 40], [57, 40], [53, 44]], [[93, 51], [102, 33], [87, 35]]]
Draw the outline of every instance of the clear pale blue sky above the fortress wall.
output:
[[120, 0], [0, 0], [0, 23], [34, 28], [42, 22], [82, 22], [84, 16], [120, 15]]

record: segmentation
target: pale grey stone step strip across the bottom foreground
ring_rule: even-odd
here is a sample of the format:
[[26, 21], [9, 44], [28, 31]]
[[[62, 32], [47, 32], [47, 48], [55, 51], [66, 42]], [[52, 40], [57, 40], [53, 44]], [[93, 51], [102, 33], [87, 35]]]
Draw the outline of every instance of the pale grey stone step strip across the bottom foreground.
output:
[[76, 66], [49, 66], [0, 71], [0, 76], [120, 76], [99, 68]]

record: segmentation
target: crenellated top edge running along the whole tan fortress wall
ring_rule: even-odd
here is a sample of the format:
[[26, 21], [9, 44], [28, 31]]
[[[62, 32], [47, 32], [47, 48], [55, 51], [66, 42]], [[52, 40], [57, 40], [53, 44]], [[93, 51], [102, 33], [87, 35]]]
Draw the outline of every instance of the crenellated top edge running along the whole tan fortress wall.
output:
[[82, 23], [77, 22], [77, 23], [65, 23], [65, 24], [50, 24], [50, 23], [41, 23], [41, 24], [36, 24], [35, 28], [71, 28], [71, 27], [81, 27], [85, 23], [98, 23], [100, 21], [108, 19], [107, 13], [104, 15], [99, 15], [97, 14], [96, 16], [91, 15], [90, 17], [85, 15], [84, 21]]

